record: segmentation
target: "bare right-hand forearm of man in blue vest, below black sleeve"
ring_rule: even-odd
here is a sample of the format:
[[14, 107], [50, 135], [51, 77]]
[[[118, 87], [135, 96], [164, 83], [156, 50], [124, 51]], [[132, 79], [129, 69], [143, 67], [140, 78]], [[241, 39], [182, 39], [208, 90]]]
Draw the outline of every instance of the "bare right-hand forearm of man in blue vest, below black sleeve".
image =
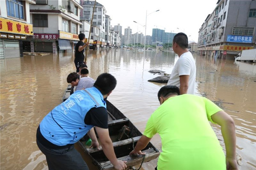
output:
[[122, 170], [126, 168], [126, 164], [124, 161], [120, 161], [116, 158], [116, 154], [114, 152], [113, 144], [111, 138], [109, 137], [108, 129], [103, 129], [100, 127], [95, 127], [97, 134], [99, 136], [99, 140], [102, 144], [102, 150], [105, 153], [105, 156], [109, 161], [114, 165], [117, 170]]

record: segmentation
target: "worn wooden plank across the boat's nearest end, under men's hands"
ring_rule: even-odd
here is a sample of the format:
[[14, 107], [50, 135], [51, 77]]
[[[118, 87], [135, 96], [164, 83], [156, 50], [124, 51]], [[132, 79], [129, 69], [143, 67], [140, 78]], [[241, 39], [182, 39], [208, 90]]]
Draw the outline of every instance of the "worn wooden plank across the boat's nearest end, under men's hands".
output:
[[[154, 150], [154, 148], [149, 148], [148, 150], [143, 150], [143, 153], [145, 154], [145, 159], [143, 162], [148, 162], [151, 161], [152, 159], [157, 158], [160, 153], [157, 152], [156, 150]], [[133, 167], [137, 164], [141, 164], [142, 160], [143, 160], [143, 155], [140, 156], [124, 156], [121, 158], [118, 158], [118, 160], [122, 160], [122, 161], [127, 161], [125, 164], [128, 167]], [[106, 162], [100, 162], [100, 165], [102, 166], [103, 170], [114, 170], [115, 168], [113, 167], [113, 164], [111, 164], [110, 161], [106, 161]]]

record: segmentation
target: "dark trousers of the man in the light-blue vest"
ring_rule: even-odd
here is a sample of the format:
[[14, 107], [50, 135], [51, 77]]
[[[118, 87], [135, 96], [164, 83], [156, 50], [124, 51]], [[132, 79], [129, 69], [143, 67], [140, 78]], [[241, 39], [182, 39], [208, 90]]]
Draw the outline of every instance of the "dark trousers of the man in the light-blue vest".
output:
[[64, 149], [50, 149], [36, 141], [39, 149], [46, 156], [49, 170], [89, 170], [74, 145]]

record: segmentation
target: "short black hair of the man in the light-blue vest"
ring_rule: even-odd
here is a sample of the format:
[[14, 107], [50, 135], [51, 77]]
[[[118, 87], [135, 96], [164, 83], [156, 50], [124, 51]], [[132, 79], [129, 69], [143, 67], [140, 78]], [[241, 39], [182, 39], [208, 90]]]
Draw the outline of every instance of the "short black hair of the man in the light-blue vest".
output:
[[106, 95], [116, 87], [116, 78], [109, 73], [102, 73], [96, 79], [94, 85], [102, 95]]

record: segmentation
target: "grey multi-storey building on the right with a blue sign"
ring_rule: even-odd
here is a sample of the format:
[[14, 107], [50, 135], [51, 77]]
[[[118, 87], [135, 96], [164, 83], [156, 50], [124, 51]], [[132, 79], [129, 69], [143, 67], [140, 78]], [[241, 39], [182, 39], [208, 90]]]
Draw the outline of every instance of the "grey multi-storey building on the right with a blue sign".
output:
[[256, 1], [218, 0], [198, 32], [198, 52], [234, 58], [242, 50], [255, 48], [255, 28]]

